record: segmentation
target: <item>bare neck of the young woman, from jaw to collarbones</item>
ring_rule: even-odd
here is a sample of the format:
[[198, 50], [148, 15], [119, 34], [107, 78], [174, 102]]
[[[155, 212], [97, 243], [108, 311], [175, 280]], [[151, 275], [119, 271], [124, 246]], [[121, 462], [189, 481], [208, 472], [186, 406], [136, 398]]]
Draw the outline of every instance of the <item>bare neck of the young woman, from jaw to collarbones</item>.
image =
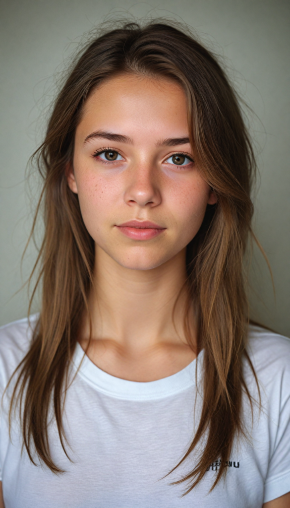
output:
[[[96, 246], [94, 284], [89, 296], [92, 339], [110, 339], [136, 352], [164, 342], [186, 343], [185, 280], [185, 249], [157, 268], [130, 270]], [[86, 323], [85, 335], [88, 329]]]

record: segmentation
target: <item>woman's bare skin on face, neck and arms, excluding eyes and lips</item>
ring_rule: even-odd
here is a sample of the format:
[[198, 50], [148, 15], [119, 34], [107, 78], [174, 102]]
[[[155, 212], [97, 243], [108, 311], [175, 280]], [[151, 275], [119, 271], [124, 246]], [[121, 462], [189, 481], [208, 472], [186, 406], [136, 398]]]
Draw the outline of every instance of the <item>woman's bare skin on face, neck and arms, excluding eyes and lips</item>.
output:
[[[67, 178], [78, 194], [96, 252], [87, 355], [102, 370], [124, 379], [163, 378], [196, 357], [194, 319], [191, 347], [183, 332], [184, 291], [175, 326], [172, 311], [186, 279], [186, 245], [198, 232], [207, 204], [214, 204], [216, 197], [194, 162], [172, 164], [172, 155], [180, 152], [194, 160], [189, 142], [161, 143], [188, 137], [186, 117], [185, 96], [177, 84], [118, 76], [91, 94], [76, 130], [73, 167], [67, 169]], [[121, 134], [130, 142], [88, 138], [95, 132]], [[103, 154], [94, 153], [108, 148], [120, 157], [106, 164]], [[148, 240], [128, 238], [117, 226], [132, 219], [153, 221], [164, 230]], [[88, 336], [84, 315], [79, 338], [84, 349]], [[289, 503], [290, 493], [263, 506], [287, 508]]]

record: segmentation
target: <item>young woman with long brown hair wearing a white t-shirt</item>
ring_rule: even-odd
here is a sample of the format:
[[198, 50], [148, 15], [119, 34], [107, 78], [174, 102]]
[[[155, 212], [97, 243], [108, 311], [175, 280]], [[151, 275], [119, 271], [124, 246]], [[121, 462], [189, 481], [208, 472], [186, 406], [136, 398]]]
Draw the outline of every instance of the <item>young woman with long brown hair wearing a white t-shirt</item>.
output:
[[6, 508], [290, 505], [290, 343], [249, 326], [254, 157], [214, 57], [96, 38], [39, 149], [38, 315], [1, 330]]

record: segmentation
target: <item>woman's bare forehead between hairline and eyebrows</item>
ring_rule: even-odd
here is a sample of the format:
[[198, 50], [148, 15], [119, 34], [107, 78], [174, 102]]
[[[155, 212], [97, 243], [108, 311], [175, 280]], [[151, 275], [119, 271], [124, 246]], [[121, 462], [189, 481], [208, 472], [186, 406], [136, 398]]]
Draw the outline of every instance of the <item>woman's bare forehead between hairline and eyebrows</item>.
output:
[[77, 131], [100, 128], [130, 136], [150, 131], [160, 137], [160, 130], [166, 137], [186, 135], [185, 93], [167, 79], [121, 75], [105, 80], [87, 99]]

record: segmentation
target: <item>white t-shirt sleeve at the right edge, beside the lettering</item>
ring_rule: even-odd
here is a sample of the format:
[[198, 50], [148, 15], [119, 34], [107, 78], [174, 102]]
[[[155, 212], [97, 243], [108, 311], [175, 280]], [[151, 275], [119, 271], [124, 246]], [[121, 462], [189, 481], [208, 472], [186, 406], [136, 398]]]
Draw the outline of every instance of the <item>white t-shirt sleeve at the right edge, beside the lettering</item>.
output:
[[272, 419], [269, 415], [273, 448], [265, 481], [264, 502], [290, 491], [290, 358], [281, 372], [275, 392], [273, 397], [279, 400], [279, 416]]

